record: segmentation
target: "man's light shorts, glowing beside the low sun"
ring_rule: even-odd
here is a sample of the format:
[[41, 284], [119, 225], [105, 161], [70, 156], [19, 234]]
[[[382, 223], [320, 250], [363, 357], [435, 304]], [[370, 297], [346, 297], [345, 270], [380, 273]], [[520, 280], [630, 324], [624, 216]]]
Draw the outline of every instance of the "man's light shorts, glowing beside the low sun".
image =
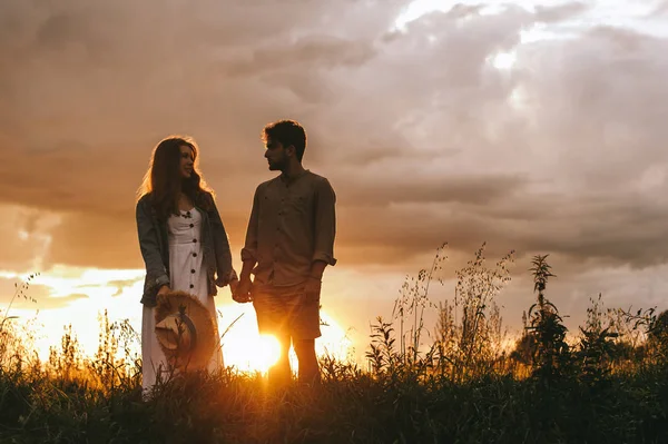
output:
[[250, 295], [261, 334], [315, 339], [321, 336], [320, 302], [304, 302], [304, 285], [256, 284]]

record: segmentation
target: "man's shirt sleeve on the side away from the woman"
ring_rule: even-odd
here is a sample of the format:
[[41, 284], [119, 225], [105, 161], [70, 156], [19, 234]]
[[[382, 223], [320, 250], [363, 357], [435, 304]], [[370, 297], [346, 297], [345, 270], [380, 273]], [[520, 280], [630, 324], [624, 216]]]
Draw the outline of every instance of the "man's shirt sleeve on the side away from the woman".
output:
[[313, 262], [322, 260], [335, 265], [334, 238], [336, 236], [336, 194], [325, 178], [320, 181], [315, 194], [315, 245]]

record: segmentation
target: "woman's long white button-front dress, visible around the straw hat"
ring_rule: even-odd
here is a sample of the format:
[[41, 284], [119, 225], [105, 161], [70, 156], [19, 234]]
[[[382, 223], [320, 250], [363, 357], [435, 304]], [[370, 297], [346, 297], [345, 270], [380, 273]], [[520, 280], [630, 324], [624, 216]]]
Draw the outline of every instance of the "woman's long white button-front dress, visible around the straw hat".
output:
[[[190, 293], [209, 309], [217, 330], [217, 313], [214, 297], [208, 295], [206, 270], [202, 264], [202, 215], [196, 208], [173, 215], [167, 221], [169, 240], [169, 287]], [[155, 334], [154, 308], [144, 306], [141, 320], [143, 383], [146, 392], [156, 382], [158, 372], [168, 375], [167, 359]], [[208, 364], [209, 372], [223, 367], [223, 353], [218, 346]]]

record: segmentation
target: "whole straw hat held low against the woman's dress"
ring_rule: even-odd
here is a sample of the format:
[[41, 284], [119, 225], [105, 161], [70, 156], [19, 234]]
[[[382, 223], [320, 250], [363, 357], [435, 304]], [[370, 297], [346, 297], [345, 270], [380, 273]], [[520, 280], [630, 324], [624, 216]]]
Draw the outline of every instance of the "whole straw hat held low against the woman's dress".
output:
[[158, 295], [154, 310], [156, 336], [169, 364], [179, 369], [205, 368], [218, 332], [209, 310], [186, 292]]

